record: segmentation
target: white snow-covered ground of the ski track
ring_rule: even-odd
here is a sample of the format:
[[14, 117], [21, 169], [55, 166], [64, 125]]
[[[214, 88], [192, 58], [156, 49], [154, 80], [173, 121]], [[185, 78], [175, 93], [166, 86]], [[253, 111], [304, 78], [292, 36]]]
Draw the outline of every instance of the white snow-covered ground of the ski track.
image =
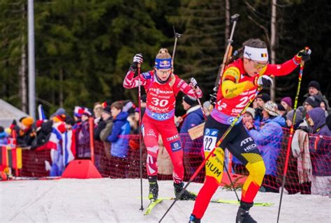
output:
[[[147, 196], [147, 180], [143, 180]], [[171, 181], [159, 182], [160, 197], [173, 197]], [[198, 192], [201, 184], [189, 190]], [[217, 199], [235, 200], [234, 192], [218, 190]], [[317, 195], [284, 194], [279, 222], [330, 222], [331, 199]], [[277, 222], [279, 194], [258, 193], [253, 207], [258, 222]], [[144, 200], [147, 207], [148, 200]], [[150, 215], [140, 209], [139, 179], [60, 179], [0, 182], [0, 222], [159, 222], [172, 201], [163, 201]], [[177, 201], [162, 222], [188, 222], [193, 201]], [[237, 205], [210, 203], [203, 222], [235, 222]]]

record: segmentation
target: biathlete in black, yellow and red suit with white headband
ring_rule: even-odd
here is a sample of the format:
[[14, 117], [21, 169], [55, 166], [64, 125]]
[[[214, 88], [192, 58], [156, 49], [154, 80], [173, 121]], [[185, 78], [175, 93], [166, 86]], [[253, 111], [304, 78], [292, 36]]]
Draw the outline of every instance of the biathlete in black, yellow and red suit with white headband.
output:
[[[217, 93], [216, 105], [207, 118], [204, 130], [205, 157], [215, 147], [235, 117], [242, 112], [249, 100], [254, 97], [258, 86], [272, 85], [270, 75], [282, 76], [292, 72], [302, 60], [309, 59], [310, 49], [302, 50], [293, 59], [282, 64], [269, 64], [267, 45], [260, 39], [249, 39], [243, 43], [243, 57], [230, 63], [222, 76]], [[241, 118], [235, 123], [228, 136], [216, 148], [205, 164], [206, 178], [198, 193], [189, 222], [200, 222], [214, 192], [223, 176], [224, 148], [240, 160], [249, 176], [242, 187], [240, 208], [237, 211], [237, 223], [256, 222], [249, 215], [249, 208], [260, 188], [265, 175], [265, 164], [254, 140], [242, 125]]]

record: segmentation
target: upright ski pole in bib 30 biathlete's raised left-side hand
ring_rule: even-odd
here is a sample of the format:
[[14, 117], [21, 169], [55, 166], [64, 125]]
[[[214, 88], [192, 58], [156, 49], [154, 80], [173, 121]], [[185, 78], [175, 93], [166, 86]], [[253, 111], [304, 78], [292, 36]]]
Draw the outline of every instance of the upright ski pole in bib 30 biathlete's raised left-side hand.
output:
[[142, 147], [141, 147], [141, 82], [140, 82], [140, 63], [138, 63], [138, 107], [139, 107], [139, 171], [140, 171], [140, 209], [144, 210], [142, 205]]

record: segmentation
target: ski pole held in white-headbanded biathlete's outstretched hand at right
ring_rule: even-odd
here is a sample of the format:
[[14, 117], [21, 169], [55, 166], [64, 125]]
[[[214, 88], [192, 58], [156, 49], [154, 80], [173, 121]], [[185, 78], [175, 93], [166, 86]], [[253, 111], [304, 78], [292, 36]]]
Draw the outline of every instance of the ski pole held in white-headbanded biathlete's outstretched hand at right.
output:
[[283, 180], [281, 182], [281, 198], [279, 200], [277, 223], [279, 222], [279, 215], [281, 213], [281, 200], [283, 199], [283, 192], [284, 192], [286, 174], [287, 174], [287, 169], [288, 169], [288, 160], [290, 158], [290, 145], [292, 144], [292, 139], [293, 139], [293, 126], [295, 125], [295, 117], [296, 117], [296, 112], [297, 112], [296, 111], [297, 110], [297, 100], [299, 99], [303, 69], [304, 69], [304, 61], [302, 61], [300, 63], [299, 83], [297, 84], [297, 93], [295, 95], [295, 101], [294, 101], [294, 108], [293, 108], [294, 112], [293, 112], [293, 118], [292, 118], [292, 125], [290, 125], [290, 137], [288, 138], [288, 144], [287, 144], [287, 149], [286, 149], [286, 159], [285, 159], [285, 164], [284, 164]]

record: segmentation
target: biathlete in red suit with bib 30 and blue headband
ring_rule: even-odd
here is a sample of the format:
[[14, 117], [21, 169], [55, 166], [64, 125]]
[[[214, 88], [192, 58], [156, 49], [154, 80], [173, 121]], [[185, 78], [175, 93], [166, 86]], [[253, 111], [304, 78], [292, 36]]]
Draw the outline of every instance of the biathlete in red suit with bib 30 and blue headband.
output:
[[[138, 63], [142, 63], [142, 55], [136, 54], [133, 64], [128, 70], [123, 86], [126, 89], [138, 87], [138, 77], [134, 77]], [[147, 175], [149, 180], [149, 199], [157, 199], [159, 186], [156, 181], [158, 174], [157, 155], [159, 153], [159, 134], [168, 151], [172, 164], [175, 195], [184, 187], [183, 148], [175, 126], [175, 102], [179, 91], [201, 98], [203, 93], [196, 86], [196, 79], [191, 78], [190, 84], [177, 75], [172, 74], [172, 59], [167, 49], [160, 49], [156, 55], [154, 70], [143, 72], [140, 83], [147, 93], [147, 107], [142, 118], [142, 136], [147, 148]], [[193, 90], [196, 89], [196, 91]], [[179, 199], [194, 200], [196, 195], [184, 191]]]

